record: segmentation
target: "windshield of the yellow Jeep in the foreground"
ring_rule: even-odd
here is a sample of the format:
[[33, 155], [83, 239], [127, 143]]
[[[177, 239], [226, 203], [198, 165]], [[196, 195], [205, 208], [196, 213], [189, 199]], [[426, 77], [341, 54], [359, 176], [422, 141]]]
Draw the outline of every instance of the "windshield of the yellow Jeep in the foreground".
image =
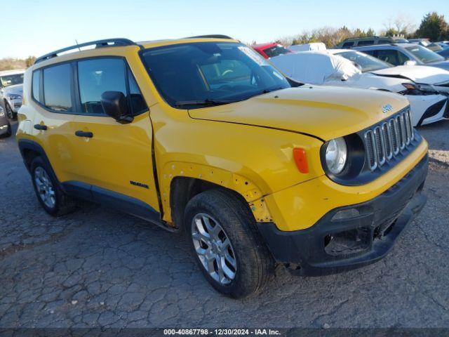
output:
[[253, 49], [230, 42], [176, 44], [142, 51], [149, 76], [180, 109], [246, 100], [290, 84]]

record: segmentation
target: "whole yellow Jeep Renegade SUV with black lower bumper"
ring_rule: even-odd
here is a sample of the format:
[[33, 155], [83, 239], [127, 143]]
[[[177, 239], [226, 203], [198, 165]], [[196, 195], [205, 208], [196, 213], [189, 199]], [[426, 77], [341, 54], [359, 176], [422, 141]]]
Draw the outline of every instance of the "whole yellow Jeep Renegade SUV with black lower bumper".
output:
[[81, 198], [182, 230], [233, 297], [276, 263], [326, 275], [379, 260], [426, 200], [405, 98], [299, 84], [225, 36], [44, 55], [19, 119], [43, 209]]

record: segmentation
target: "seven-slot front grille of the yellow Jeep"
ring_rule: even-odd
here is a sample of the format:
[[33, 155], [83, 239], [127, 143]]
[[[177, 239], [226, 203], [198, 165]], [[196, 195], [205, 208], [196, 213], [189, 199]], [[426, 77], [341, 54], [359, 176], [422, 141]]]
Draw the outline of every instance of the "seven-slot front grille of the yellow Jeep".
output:
[[410, 109], [395, 114], [363, 135], [371, 171], [406, 150], [414, 138]]

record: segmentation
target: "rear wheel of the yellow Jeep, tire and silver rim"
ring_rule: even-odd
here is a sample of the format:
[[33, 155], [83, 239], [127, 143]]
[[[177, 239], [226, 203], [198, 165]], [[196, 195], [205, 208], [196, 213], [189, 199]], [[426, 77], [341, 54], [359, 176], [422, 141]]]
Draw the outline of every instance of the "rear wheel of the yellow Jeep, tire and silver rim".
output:
[[34, 157], [30, 172], [36, 197], [48, 214], [62, 216], [74, 211], [76, 206], [74, 200], [62, 191], [42, 157]]

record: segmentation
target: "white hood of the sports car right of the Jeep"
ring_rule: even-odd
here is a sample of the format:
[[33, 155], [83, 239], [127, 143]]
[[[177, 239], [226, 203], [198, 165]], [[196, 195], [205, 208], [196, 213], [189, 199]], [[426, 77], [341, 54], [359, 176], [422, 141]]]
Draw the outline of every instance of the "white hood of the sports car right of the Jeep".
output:
[[398, 67], [385, 68], [371, 73], [382, 76], [404, 77], [417, 83], [425, 84], [449, 82], [449, 72], [447, 70], [426, 65], [399, 65]]

